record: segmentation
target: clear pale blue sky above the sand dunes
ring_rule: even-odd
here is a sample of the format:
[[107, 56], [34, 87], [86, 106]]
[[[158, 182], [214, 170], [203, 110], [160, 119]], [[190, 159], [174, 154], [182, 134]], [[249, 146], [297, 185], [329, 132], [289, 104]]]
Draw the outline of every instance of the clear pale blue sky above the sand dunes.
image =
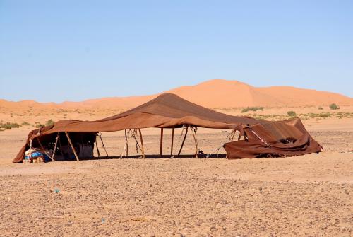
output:
[[353, 96], [353, 1], [0, 0], [0, 98], [157, 93], [209, 79]]

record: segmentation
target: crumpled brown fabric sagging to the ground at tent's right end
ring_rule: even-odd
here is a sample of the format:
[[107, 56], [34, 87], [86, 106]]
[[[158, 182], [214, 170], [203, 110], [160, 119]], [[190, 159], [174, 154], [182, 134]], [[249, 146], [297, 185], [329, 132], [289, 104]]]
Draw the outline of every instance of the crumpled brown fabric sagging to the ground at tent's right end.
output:
[[244, 135], [245, 140], [224, 145], [227, 158], [299, 156], [322, 149], [299, 118], [248, 126], [244, 128]]

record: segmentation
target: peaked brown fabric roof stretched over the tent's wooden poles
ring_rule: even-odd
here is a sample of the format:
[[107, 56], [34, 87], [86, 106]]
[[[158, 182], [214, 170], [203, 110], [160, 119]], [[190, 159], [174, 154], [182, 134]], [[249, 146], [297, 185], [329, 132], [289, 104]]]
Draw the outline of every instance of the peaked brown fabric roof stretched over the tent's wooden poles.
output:
[[148, 127], [177, 128], [183, 125], [237, 129], [242, 132], [243, 127], [247, 125], [270, 126], [271, 122], [251, 117], [226, 115], [191, 103], [177, 95], [166, 93], [136, 108], [102, 120], [60, 120], [52, 126], [35, 129], [28, 134], [25, 145], [13, 162], [22, 162], [24, 152], [29, 148], [31, 140], [36, 137], [39, 137], [41, 141], [49, 140], [58, 132], [98, 133]]

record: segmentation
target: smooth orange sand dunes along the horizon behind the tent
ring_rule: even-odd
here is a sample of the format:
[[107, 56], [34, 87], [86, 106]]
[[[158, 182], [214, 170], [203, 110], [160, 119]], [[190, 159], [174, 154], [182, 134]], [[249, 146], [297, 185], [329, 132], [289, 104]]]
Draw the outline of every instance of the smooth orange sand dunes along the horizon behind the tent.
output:
[[[181, 98], [208, 108], [236, 108], [247, 106], [265, 107], [301, 107], [318, 106], [337, 103], [338, 105], [353, 105], [353, 98], [338, 93], [316, 91], [290, 86], [254, 87], [240, 81], [215, 79], [199, 83], [196, 86], [181, 86], [164, 93], [175, 93]], [[1, 110], [37, 110], [57, 109], [128, 109], [145, 103], [156, 95], [113, 97], [84, 100], [82, 102], [37, 103], [34, 100], [12, 102], [0, 100]]]

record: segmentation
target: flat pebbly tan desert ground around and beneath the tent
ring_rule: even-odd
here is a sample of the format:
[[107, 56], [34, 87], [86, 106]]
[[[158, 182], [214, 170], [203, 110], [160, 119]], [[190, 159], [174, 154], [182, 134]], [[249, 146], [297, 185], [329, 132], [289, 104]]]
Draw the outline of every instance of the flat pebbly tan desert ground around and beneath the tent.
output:
[[[0, 132], [0, 236], [352, 236], [352, 118], [304, 124], [322, 153], [232, 161], [192, 158], [188, 137], [189, 158], [14, 164], [32, 127]], [[159, 129], [143, 134], [158, 154]], [[201, 149], [214, 152], [227, 134], [199, 129]], [[102, 137], [119, 156], [124, 134]], [[170, 131], [164, 138], [167, 155]]]

